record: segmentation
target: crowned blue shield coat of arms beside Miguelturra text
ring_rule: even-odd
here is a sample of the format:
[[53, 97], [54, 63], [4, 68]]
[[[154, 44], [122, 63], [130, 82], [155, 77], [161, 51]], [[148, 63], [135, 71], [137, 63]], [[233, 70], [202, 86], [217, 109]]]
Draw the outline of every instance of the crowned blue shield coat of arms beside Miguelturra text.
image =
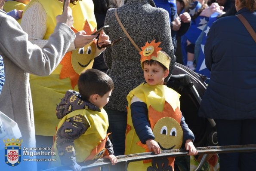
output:
[[22, 144], [23, 140], [14, 139], [11, 140], [8, 138], [7, 140], [3, 140], [5, 143], [4, 147], [4, 159], [5, 163], [9, 166], [16, 166], [19, 165], [22, 159]]

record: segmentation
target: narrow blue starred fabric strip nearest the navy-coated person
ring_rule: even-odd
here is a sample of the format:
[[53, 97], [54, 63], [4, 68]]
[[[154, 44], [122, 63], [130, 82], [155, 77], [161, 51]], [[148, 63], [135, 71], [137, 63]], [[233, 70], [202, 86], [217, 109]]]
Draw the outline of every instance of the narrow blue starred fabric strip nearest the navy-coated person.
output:
[[210, 78], [210, 70], [208, 70], [208, 68], [205, 65], [204, 45], [206, 43], [208, 31], [210, 30], [210, 27], [212, 26], [213, 22], [216, 21], [218, 15], [219, 15], [219, 13], [217, 13], [217, 12], [213, 13], [209, 18], [207, 26], [203, 30], [204, 37], [203, 37], [201, 45], [200, 45], [199, 57], [198, 57], [198, 60], [197, 60], [197, 67], [196, 67], [196, 70], [195, 70], [196, 73], [200, 73], [202, 75], [205, 75], [208, 78]]

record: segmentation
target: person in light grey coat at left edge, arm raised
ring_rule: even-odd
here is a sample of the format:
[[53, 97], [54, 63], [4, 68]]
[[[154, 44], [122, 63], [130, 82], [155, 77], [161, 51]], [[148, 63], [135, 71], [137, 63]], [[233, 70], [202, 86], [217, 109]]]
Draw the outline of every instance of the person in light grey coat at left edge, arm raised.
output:
[[[0, 1], [2, 4], [3, 1]], [[28, 34], [22, 31], [19, 23], [6, 15], [0, 6], [0, 55], [3, 56], [5, 65], [5, 85], [0, 95], [0, 111], [18, 123], [22, 133], [22, 147], [35, 147], [29, 73], [49, 75], [62, 60], [75, 38], [70, 28], [73, 17], [68, 5], [69, 1], [66, 3], [64, 13], [56, 17], [58, 24], [43, 49], [29, 42]], [[1, 147], [2, 144], [3, 142]], [[22, 158], [25, 158], [23, 153], [22, 155]], [[24, 165], [25, 163], [27, 164]], [[24, 171], [34, 171], [36, 168], [32, 163], [22, 161], [19, 165], [24, 165], [25, 168], [21, 168]], [[4, 160], [1, 160], [0, 165], [7, 166]], [[14, 168], [18, 169], [19, 165]]]

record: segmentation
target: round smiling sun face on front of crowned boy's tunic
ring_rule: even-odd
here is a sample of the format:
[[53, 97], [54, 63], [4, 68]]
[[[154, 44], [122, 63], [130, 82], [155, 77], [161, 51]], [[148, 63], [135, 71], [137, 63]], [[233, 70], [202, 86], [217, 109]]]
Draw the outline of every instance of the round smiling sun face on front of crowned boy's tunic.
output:
[[161, 150], [179, 149], [182, 145], [183, 131], [179, 123], [171, 117], [163, 117], [153, 128], [155, 141]]

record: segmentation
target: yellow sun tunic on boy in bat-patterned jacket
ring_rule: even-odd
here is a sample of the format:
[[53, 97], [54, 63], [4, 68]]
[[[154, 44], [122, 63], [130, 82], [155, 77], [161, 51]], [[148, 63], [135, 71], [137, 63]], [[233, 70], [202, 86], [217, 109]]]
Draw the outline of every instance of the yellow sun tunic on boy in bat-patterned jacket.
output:
[[[85, 160], [87, 161], [101, 158], [104, 153], [104, 151], [102, 152], [102, 150], [105, 150], [104, 140], [106, 140], [107, 137], [107, 113], [104, 109], [101, 109], [100, 112], [89, 109], [74, 110], [73, 112], [69, 113], [68, 115], [62, 118], [62, 120], [59, 122], [57, 131], [67, 119], [77, 115], [82, 115], [86, 118], [86, 120], [89, 123], [89, 128], [85, 131], [84, 134], [82, 134], [79, 138], [74, 140], [74, 147], [69, 148], [70, 152], [72, 150], [75, 150], [76, 161], [78, 163], [84, 162]], [[101, 148], [95, 151], [97, 146]], [[56, 156], [52, 158], [55, 158], [56, 162], [51, 162], [51, 167], [61, 166], [59, 154], [56, 147], [56, 140], [54, 143], [54, 151], [56, 152]]]

